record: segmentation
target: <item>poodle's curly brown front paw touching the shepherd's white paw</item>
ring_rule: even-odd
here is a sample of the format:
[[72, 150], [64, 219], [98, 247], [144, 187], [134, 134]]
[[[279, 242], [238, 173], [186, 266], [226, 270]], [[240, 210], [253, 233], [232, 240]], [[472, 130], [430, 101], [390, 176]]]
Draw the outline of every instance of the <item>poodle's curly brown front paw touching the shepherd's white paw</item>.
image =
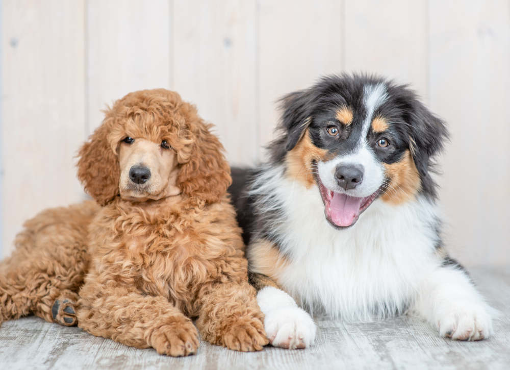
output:
[[268, 343], [264, 325], [258, 318], [240, 318], [222, 335], [222, 344], [234, 351], [261, 351]]

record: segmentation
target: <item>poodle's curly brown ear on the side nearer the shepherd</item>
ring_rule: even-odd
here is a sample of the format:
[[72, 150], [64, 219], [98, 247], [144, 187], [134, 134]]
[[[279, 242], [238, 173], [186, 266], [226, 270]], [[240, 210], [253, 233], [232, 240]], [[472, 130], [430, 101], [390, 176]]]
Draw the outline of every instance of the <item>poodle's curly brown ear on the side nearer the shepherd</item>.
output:
[[179, 172], [179, 187], [195, 201], [218, 202], [232, 183], [223, 145], [209, 132], [212, 125], [190, 125], [194, 136], [191, 156]]

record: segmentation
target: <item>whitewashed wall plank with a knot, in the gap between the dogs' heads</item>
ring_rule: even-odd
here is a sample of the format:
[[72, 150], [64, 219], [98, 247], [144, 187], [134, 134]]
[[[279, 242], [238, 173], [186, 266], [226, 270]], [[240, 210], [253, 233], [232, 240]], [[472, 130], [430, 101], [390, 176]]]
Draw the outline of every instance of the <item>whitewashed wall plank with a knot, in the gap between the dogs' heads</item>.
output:
[[216, 126], [231, 164], [256, 164], [256, 2], [175, 0], [174, 14], [173, 88]]

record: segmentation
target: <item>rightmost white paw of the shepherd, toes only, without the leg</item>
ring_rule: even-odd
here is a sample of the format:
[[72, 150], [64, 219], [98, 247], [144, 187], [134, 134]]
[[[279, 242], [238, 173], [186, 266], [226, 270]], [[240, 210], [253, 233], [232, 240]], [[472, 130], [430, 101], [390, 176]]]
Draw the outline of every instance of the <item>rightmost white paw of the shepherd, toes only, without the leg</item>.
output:
[[492, 334], [491, 316], [481, 305], [456, 305], [439, 319], [439, 335], [457, 340], [481, 340]]

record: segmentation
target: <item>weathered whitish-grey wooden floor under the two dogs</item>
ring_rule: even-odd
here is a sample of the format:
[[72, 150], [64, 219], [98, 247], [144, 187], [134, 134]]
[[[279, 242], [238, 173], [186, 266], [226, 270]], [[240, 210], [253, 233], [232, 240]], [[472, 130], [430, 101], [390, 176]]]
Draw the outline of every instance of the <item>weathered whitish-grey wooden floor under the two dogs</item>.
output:
[[170, 358], [25, 317], [0, 328], [0, 369], [510, 369], [510, 268], [473, 269], [471, 275], [501, 312], [494, 336], [479, 342], [439, 338], [416, 317], [370, 324], [318, 318], [309, 349], [239, 353], [201, 341], [196, 355]]

